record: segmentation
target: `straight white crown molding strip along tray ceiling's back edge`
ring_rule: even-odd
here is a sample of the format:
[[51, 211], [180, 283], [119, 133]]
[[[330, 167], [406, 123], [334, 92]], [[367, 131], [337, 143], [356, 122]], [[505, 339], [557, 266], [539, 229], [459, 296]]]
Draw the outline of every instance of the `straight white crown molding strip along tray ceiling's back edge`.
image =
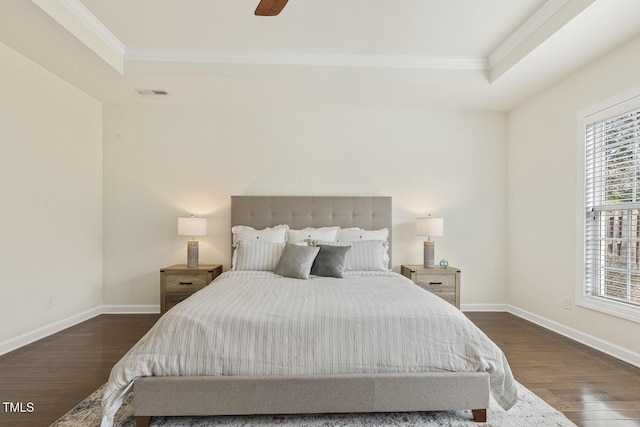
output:
[[125, 61], [207, 62], [333, 67], [486, 70], [485, 58], [421, 55], [325, 54], [301, 52], [240, 52], [190, 49], [126, 48]]

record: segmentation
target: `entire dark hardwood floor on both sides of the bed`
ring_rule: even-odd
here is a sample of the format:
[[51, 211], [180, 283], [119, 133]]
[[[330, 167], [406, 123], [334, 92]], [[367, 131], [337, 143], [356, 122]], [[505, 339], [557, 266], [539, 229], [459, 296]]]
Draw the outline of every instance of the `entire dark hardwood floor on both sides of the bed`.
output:
[[[516, 379], [578, 426], [640, 426], [640, 368], [508, 313], [466, 314], [503, 349]], [[102, 315], [0, 356], [0, 400], [23, 411], [3, 404], [0, 425], [48, 426], [105, 383], [158, 317]]]

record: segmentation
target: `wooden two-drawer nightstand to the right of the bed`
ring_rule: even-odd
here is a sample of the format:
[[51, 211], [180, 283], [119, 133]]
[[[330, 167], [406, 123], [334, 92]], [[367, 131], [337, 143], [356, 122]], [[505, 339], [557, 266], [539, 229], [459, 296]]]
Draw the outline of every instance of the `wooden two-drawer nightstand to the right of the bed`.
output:
[[413, 283], [438, 295], [460, 309], [460, 269], [424, 268], [422, 265], [402, 265], [401, 273]]

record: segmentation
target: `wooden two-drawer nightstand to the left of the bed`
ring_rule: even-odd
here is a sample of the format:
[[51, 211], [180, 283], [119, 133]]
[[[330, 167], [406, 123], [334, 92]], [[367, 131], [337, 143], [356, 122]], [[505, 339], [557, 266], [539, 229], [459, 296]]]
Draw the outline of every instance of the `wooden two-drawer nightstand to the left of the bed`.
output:
[[188, 268], [176, 264], [160, 270], [160, 313], [189, 298], [222, 274], [221, 265], [201, 264]]

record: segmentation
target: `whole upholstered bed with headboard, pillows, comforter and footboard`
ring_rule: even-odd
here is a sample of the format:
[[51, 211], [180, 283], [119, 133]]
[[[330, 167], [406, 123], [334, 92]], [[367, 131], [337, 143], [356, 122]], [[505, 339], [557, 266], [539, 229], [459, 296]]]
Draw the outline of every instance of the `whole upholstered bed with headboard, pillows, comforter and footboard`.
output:
[[[470, 409], [474, 420], [485, 421], [491, 393], [505, 409], [515, 403], [515, 380], [497, 346], [453, 306], [388, 270], [391, 198], [233, 196], [231, 205], [232, 227], [284, 225], [288, 239], [290, 231], [319, 237], [311, 246], [327, 253], [338, 250], [327, 246], [344, 245], [325, 242], [323, 230], [361, 230], [352, 236], [356, 240], [373, 233], [365, 242], [350, 241], [352, 255], [374, 246], [378, 251], [376, 233], [386, 230], [386, 268], [360, 271], [349, 255], [355, 270], [345, 266], [340, 278], [322, 273], [301, 279], [288, 271], [283, 277], [274, 272], [282, 273], [282, 262], [280, 270], [223, 273], [166, 313], [116, 364], [103, 399], [103, 427], [132, 388], [138, 426], [148, 426], [153, 416], [456, 409]], [[304, 230], [319, 234], [304, 236]], [[236, 234], [238, 267], [246, 259], [240, 248], [253, 244], [238, 244]], [[260, 238], [261, 251], [275, 246], [267, 234]], [[305, 243], [305, 249], [284, 248], [306, 254]], [[282, 252], [278, 257], [286, 258]], [[425, 313], [432, 317], [422, 318]], [[240, 338], [232, 343], [232, 336]], [[436, 338], [427, 345], [426, 336], [453, 337], [455, 343]], [[444, 357], [438, 346], [460, 349]], [[169, 356], [169, 347], [177, 353]]]

